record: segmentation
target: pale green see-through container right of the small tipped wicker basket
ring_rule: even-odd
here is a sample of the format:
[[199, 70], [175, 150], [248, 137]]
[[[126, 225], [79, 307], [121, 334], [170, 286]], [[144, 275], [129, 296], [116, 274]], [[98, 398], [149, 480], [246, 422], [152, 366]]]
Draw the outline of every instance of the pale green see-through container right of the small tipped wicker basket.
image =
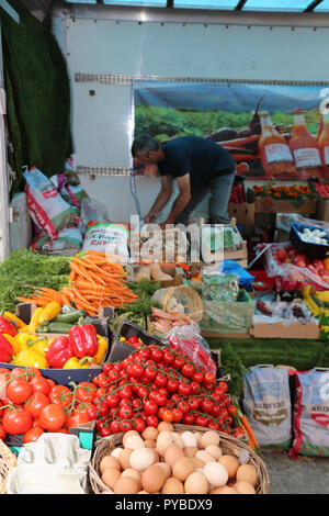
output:
[[203, 300], [204, 314], [200, 323], [202, 335], [248, 334], [252, 326], [256, 303], [246, 290], [240, 290], [238, 301]]

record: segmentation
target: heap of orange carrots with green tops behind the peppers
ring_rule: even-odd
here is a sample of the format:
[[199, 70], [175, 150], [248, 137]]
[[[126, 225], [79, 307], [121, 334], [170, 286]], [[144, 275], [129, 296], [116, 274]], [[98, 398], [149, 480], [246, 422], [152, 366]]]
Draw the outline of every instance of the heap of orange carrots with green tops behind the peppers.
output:
[[95, 250], [88, 250], [81, 258], [75, 256], [70, 263], [69, 284], [61, 292], [39, 288], [32, 296], [18, 299], [37, 306], [57, 301], [61, 306], [84, 310], [88, 315], [97, 315], [100, 306], [122, 307], [138, 299], [138, 295], [126, 285], [127, 274], [123, 266], [110, 261], [111, 258], [117, 259]]

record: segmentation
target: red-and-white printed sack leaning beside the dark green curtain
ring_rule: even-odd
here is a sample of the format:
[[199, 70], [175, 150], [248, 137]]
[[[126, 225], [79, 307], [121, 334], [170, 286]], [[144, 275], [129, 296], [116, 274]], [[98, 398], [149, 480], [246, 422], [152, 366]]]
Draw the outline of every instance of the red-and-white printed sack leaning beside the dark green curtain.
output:
[[36, 167], [23, 172], [30, 215], [35, 225], [55, 240], [58, 232], [76, 224], [77, 213]]

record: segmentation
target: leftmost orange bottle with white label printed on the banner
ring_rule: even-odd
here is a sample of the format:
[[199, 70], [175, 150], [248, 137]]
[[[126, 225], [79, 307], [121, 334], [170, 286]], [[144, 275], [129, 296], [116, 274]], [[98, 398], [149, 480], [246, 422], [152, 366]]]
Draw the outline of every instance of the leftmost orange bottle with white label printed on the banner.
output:
[[284, 136], [275, 130], [266, 111], [259, 113], [259, 116], [262, 132], [258, 149], [265, 176], [297, 177], [294, 158]]

